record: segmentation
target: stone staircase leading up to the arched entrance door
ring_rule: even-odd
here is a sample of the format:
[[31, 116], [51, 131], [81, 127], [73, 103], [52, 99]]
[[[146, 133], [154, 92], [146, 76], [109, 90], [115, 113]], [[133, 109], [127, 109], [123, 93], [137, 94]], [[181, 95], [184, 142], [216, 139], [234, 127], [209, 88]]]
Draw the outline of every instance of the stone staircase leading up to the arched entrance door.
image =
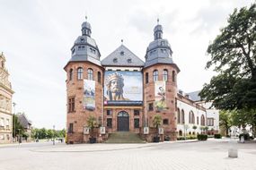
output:
[[145, 143], [145, 141], [134, 132], [113, 132], [109, 134], [109, 139], [105, 143]]

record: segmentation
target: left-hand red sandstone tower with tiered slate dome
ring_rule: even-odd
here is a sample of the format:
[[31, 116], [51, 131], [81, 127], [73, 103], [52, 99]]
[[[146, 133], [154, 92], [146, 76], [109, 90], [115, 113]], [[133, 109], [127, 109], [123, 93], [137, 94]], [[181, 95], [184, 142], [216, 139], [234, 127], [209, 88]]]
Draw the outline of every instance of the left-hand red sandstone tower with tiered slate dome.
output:
[[82, 24], [82, 35], [71, 47], [71, 59], [64, 67], [66, 71], [66, 130], [67, 143], [82, 143], [89, 140], [84, 135], [86, 121], [93, 116], [102, 124], [103, 114], [103, 68], [101, 53], [91, 38], [92, 28], [88, 21]]

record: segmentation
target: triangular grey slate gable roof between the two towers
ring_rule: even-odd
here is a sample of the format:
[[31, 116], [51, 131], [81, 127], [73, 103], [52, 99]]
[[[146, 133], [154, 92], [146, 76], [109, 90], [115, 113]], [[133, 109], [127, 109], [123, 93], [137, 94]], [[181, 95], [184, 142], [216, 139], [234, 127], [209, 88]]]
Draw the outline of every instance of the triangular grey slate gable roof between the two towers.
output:
[[144, 66], [144, 62], [135, 54], [133, 54], [128, 47], [121, 45], [110, 55], [102, 60], [104, 66]]

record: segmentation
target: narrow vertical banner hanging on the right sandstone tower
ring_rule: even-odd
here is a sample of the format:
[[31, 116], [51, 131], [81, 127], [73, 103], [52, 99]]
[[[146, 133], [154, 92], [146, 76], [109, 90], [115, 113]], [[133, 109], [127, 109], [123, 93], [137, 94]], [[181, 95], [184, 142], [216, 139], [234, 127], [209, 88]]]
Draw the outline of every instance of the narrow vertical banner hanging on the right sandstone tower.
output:
[[166, 110], [165, 81], [154, 82], [154, 106], [157, 111]]

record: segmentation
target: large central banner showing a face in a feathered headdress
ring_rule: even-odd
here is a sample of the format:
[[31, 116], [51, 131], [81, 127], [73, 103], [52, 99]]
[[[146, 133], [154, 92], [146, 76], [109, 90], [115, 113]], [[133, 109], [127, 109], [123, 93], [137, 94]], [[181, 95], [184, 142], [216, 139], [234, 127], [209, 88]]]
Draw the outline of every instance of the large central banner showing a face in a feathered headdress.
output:
[[141, 105], [142, 72], [105, 72], [104, 104]]

